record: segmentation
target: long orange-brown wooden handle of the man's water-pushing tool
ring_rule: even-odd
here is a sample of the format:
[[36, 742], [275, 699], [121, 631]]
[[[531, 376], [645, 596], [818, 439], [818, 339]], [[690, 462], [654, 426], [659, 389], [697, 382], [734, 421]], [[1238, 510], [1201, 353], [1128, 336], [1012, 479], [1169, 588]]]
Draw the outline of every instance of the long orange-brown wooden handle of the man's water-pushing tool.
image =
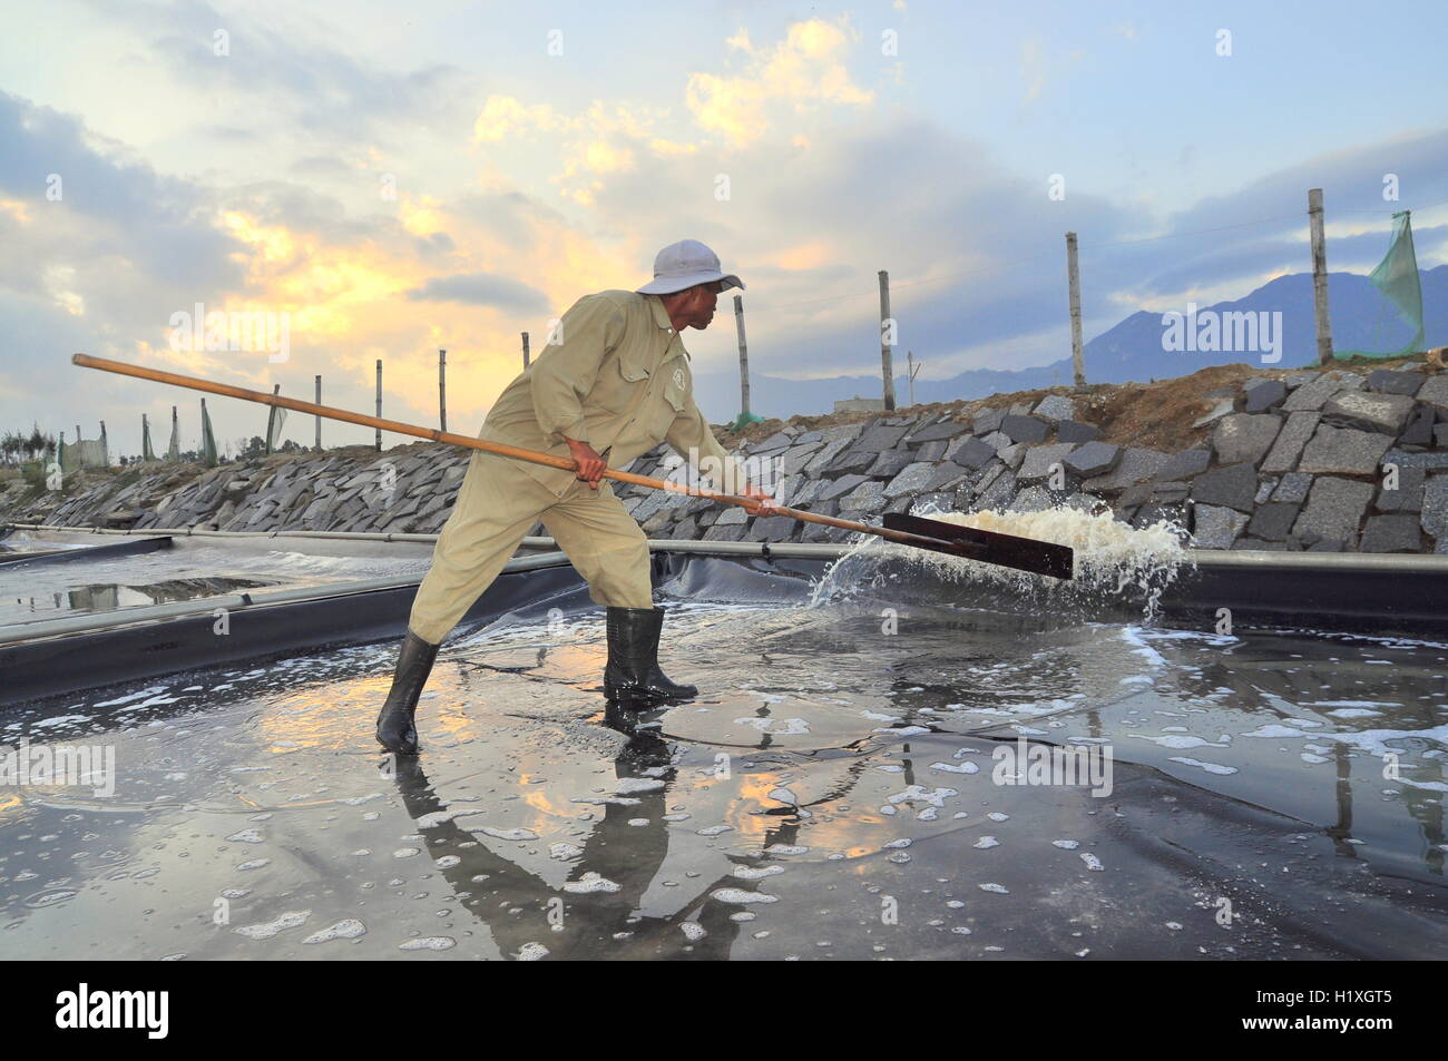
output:
[[[361, 424], [362, 427], [381, 427], [384, 431], [395, 431], [397, 434], [413, 434], [418, 439], [432, 439], [433, 441], [442, 441], [449, 446], [466, 446], [468, 449], [487, 450], [488, 453], [497, 453], [498, 456], [513, 457], [514, 460], [527, 460], [534, 465], [546, 465], [549, 468], [559, 468], [568, 472], [578, 470], [578, 462], [569, 460], [568, 457], [555, 457], [549, 453], [539, 453], [537, 450], [523, 449], [521, 446], [508, 446], [501, 441], [485, 441], [484, 439], [472, 439], [466, 434], [452, 434], [450, 431], [439, 431], [432, 427], [418, 427], [417, 424], [405, 424], [400, 420], [384, 420], [381, 417], [369, 417], [365, 413], [349, 413], [348, 410], [333, 408], [330, 405], [317, 405], [310, 401], [300, 401], [298, 398], [284, 398], [279, 394], [264, 394], [262, 391], [249, 391], [245, 386], [232, 386], [230, 384], [213, 384], [210, 379], [197, 379], [195, 376], [182, 376], [175, 372], [164, 372], [161, 369], [142, 368], [140, 365], [127, 365], [122, 360], [110, 360], [109, 358], [91, 358], [85, 353], [77, 353], [71, 356], [72, 365], [80, 365], [88, 369], [101, 369], [104, 372], [116, 372], [123, 376], [135, 376], [136, 379], [151, 379], [158, 384], [171, 384], [172, 386], [188, 386], [193, 391], [207, 391], [210, 394], [222, 394], [227, 398], [240, 398], [242, 401], [255, 401], [261, 405], [277, 405], [279, 408], [295, 410], [297, 413], [310, 413], [316, 417], [327, 417], [329, 420], [343, 420], [349, 424]], [[754, 504], [750, 498], [741, 498], [734, 494], [717, 494], [715, 491], [704, 489], [702, 486], [682, 486], [675, 482], [666, 482], [663, 479], [650, 479], [647, 475], [634, 475], [633, 472], [620, 472], [614, 468], [604, 469], [604, 479], [614, 479], [617, 482], [631, 482], [637, 486], [649, 486], [652, 489], [670, 491], [673, 494], [686, 494], [691, 498], [707, 498], [710, 501], [718, 501], [725, 505], [741, 505], [750, 507]], [[805, 512], [798, 508], [785, 508], [783, 505], [775, 505], [770, 510], [778, 515], [788, 515], [792, 520], [802, 520], [805, 523], [820, 523], [827, 527], [840, 527], [850, 531], [862, 531], [864, 534], [875, 534], [882, 538], [889, 538], [891, 541], [899, 541], [906, 546], [921, 546], [922, 543], [931, 543], [933, 547], [940, 543], [934, 538], [921, 537], [918, 534], [906, 534], [905, 531], [889, 530], [886, 527], [872, 527], [867, 523], [854, 523], [853, 520], [837, 520], [833, 515], [820, 515], [818, 512]], [[959, 544], [959, 543], [957, 543]], [[960, 551], [966, 551], [960, 549]]]

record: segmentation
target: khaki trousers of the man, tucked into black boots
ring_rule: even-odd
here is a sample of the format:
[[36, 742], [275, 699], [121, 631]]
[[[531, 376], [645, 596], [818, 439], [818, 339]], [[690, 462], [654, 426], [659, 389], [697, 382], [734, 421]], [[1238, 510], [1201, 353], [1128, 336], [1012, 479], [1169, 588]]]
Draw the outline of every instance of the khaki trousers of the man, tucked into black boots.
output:
[[413, 598], [408, 628], [442, 644], [539, 518], [588, 580], [597, 604], [653, 606], [647, 538], [608, 481], [597, 491], [575, 481], [559, 498], [517, 462], [478, 452], [437, 536], [433, 566]]

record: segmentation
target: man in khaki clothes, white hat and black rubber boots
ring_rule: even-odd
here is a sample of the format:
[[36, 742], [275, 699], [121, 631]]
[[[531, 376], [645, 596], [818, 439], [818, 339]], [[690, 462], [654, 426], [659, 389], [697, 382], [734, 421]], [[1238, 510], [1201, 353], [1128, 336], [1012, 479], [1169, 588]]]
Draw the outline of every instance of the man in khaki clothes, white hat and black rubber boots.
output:
[[707, 329], [720, 292], [731, 287], [744, 284], [721, 272], [707, 246], [672, 243], [654, 258], [653, 281], [637, 291], [579, 298], [543, 355], [508, 384], [478, 437], [571, 457], [576, 468], [473, 452], [413, 599], [392, 689], [376, 718], [382, 747], [417, 754], [417, 698], [437, 647], [539, 518], [588, 580], [589, 596], [607, 608], [604, 693], [653, 703], [698, 692], [659, 669], [663, 608], [653, 605], [649, 543], [599, 479], [608, 468], [602, 453], [623, 466], [668, 441], [685, 459], [692, 450], [694, 459], [712, 457], [733, 472], [727, 488], [757, 499], [750, 514], [769, 511], [769, 495], [746, 483], [694, 402], [681, 336], [686, 327]]

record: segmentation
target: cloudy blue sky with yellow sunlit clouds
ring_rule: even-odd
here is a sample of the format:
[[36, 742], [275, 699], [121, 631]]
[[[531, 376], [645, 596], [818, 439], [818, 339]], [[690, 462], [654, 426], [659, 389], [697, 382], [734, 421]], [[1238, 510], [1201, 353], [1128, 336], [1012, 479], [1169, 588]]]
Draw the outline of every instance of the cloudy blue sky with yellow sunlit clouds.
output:
[[[381, 358], [384, 414], [436, 426], [446, 347], [473, 433], [520, 331], [682, 237], [791, 378], [879, 371], [879, 269], [922, 376], [1057, 360], [1067, 230], [1087, 339], [1244, 295], [1309, 268], [1309, 187], [1334, 271], [1402, 208], [1448, 262], [1436, 1], [0, 6], [0, 428], [106, 420], [113, 453], [172, 404], [194, 446], [198, 395], [72, 352], [303, 398], [320, 373], [359, 411]], [[287, 314], [285, 360], [174, 349], [197, 304]], [[730, 314], [688, 344], [728, 371]], [[222, 440], [265, 424], [209, 407]]]

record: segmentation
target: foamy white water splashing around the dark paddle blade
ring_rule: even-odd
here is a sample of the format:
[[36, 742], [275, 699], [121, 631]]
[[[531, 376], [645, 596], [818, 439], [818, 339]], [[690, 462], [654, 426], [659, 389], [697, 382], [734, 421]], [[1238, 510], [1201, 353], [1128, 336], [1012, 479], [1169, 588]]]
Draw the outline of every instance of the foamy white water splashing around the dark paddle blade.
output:
[[[882, 562], [905, 562], [924, 569], [931, 580], [953, 582], [985, 591], [1003, 591], [1035, 606], [1074, 601], [1115, 602], [1140, 596], [1142, 617], [1156, 617], [1161, 592], [1183, 565], [1190, 563], [1180, 528], [1158, 521], [1135, 528], [1111, 512], [1089, 514], [1079, 508], [1047, 508], [1035, 512], [985, 510], [980, 512], [924, 512], [927, 518], [960, 527], [1014, 534], [1061, 546], [1076, 553], [1074, 579], [1032, 575], [961, 556], [904, 546], [873, 534], [860, 534], [849, 551], [835, 560], [814, 588], [809, 606], [830, 596], [862, 589]], [[863, 567], [862, 567], [863, 565]]]

